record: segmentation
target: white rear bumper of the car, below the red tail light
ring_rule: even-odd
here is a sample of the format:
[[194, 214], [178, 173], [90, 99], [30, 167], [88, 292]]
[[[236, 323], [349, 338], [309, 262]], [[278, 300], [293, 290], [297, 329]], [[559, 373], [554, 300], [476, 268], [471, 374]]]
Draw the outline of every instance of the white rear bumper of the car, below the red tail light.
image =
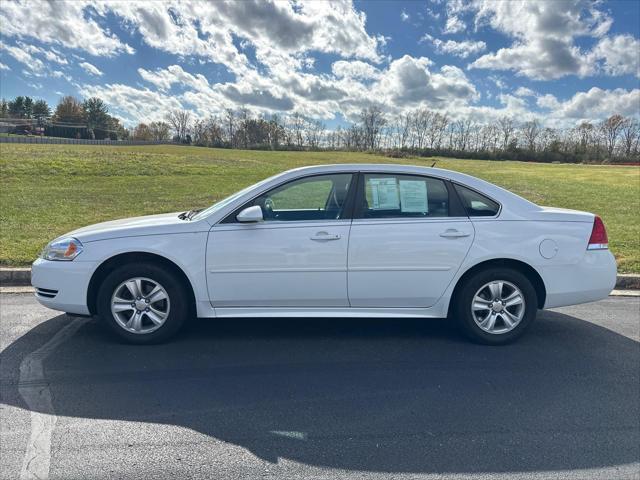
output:
[[602, 300], [616, 285], [616, 260], [610, 250], [587, 250], [581, 262], [545, 266], [540, 272], [547, 289], [544, 308]]

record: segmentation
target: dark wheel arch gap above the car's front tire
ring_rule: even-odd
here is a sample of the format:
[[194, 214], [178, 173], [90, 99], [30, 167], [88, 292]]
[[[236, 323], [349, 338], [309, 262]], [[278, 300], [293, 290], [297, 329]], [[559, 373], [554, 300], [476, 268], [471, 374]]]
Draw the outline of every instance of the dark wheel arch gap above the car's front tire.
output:
[[96, 302], [98, 298], [98, 290], [100, 289], [100, 285], [102, 281], [116, 268], [126, 265], [127, 263], [154, 263], [156, 265], [161, 265], [171, 272], [173, 272], [180, 281], [184, 284], [187, 289], [189, 295], [189, 304], [192, 312], [195, 314], [196, 312], [196, 300], [194, 294], [194, 288], [187, 277], [186, 273], [182, 268], [180, 268], [175, 262], [169, 260], [162, 255], [158, 255], [156, 253], [149, 252], [126, 252], [119, 253], [114, 255], [105, 261], [103, 261], [100, 266], [93, 272], [91, 276], [91, 280], [89, 281], [89, 286], [87, 288], [87, 307], [89, 308], [89, 312], [91, 315], [95, 315], [97, 312]]

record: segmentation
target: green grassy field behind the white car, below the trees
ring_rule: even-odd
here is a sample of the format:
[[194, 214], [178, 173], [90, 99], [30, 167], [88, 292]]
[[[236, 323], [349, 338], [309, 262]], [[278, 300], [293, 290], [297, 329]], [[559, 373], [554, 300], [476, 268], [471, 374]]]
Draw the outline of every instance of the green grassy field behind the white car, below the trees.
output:
[[[324, 163], [431, 165], [366, 153], [168, 145], [0, 144], [0, 264], [27, 265], [50, 239], [104, 220], [208, 206], [267, 176]], [[438, 159], [541, 205], [601, 215], [621, 272], [640, 272], [640, 168]]]

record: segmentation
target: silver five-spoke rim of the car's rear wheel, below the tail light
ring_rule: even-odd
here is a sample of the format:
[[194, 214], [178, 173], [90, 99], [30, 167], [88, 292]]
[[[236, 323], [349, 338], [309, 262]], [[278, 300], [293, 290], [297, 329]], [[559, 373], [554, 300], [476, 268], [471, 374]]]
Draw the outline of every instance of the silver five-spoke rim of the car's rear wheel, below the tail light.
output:
[[495, 280], [484, 284], [473, 296], [471, 315], [487, 333], [499, 335], [518, 326], [524, 318], [522, 291], [511, 282]]

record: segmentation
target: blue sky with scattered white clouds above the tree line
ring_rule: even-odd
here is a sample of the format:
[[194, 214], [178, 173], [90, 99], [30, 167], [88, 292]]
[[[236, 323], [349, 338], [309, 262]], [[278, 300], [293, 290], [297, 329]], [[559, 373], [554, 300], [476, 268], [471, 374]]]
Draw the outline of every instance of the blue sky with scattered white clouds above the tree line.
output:
[[225, 108], [328, 127], [380, 104], [550, 126], [640, 115], [640, 2], [0, 4], [0, 93], [99, 96], [127, 125]]

